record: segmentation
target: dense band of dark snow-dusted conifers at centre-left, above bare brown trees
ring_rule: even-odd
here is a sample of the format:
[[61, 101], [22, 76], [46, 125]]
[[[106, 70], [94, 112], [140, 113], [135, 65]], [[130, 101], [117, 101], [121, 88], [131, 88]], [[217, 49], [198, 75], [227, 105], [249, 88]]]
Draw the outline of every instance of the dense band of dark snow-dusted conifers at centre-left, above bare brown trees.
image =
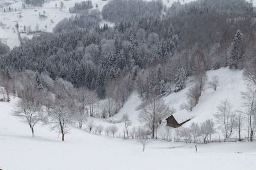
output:
[[[179, 44], [168, 18], [145, 17], [120, 22], [113, 28], [92, 24], [94, 29], [81, 29], [79, 20], [83, 23], [87, 18], [92, 16], [63, 20], [54, 29], [55, 34], [45, 33], [26, 41], [1, 58], [1, 68], [29, 69], [54, 80], [63, 78], [75, 87], [86, 85], [97, 90], [104, 97], [108, 78], [167, 60]], [[63, 30], [60, 25], [72, 28]]]

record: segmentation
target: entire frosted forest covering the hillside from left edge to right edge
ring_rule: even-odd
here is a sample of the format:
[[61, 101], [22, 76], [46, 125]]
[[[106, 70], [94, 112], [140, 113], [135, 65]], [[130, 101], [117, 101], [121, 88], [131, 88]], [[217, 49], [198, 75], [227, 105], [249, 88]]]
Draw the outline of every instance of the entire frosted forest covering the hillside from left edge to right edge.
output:
[[[113, 2], [120, 3], [120, 8]], [[217, 0], [212, 2], [216, 3]], [[253, 12], [248, 14], [243, 10], [246, 5], [249, 9], [250, 3], [243, 2], [240, 5], [242, 10], [237, 10], [237, 13], [233, 11], [236, 14], [225, 14], [218, 5], [211, 10], [198, 12], [195, 9], [200, 9], [202, 4], [197, 7], [195, 3], [182, 5], [180, 9], [194, 10], [179, 10], [179, 15], [173, 10], [160, 16], [161, 10], [157, 10], [160, 8], [150, 12], [152, 15], [141, 14], [151, 8], [152, 4], [161, 6], [161, 1], [148, 3], [110, 1], [104, 7], [108, 13], [103, 10], [102, 15], [107, 20], [115, 21], [114, 27], [108, 24], [99, 26], [99, 10], [87, 10], [76, 17], [64, 19], [56, 25], [54, 33], [44, 33], [24, 41], [3, 55], [0, 68], [5, 71], [29, 69], [39, 74], [44, 73], [53, 80], [62, 78], [70, 81], [74, 87], [85, 85], [90, 90], [96, 90], [99, 97], [113, 96], [109, 92], [113, 91], [116, 93], [114, 96], [123, 98], [124, 103], [133, 88], [138, 89], [141, 96], [147, 97], [152, 92], [161, 95], [181, 90], [187, 76], [194, 75], [202, 81], [204, 75], [201, 72], [227, 66], [232, 62], [234, 57], [228, 53], [230, 48], [232, 52], [243, 49], [239, 56], [250, 56], [247, 48], [235, 48], [236, 44], [255, 43], [256, 38], [252, 36], [255, 34]], [[138, 8], [142, 4], [145, 4], [145, 8]], [[119, 12], [125, 5], [137, 12], [130, 12], [133, 16], [122, 17]], [[239, 6], [236, 8], [239, 9]], [[127, 11], [124, 10], [124, 13]], [[244, 13], [240, 15], [241, 11]], [[236, 15], [246, 17], [241, 20], [232, 18]], [[243, 43], [232, 43], [237, 29], [243, 32]], [[236, 58], [239, 64], [245, 62], [246, 58], [240, 59], [239, 56]], [[204, 67], [198, 73], [196, 70], [201, 68], [199, 66]], [[125, 91], [119, 94], [120, 90], [116, 89], [120, 87], [109, 83], [117, 80], [134, 81], [135, 85], [127, 85]], [[115, 90], [109, 90], [108, 85]], [[116, 101], [119, 99], [111, 98]]]

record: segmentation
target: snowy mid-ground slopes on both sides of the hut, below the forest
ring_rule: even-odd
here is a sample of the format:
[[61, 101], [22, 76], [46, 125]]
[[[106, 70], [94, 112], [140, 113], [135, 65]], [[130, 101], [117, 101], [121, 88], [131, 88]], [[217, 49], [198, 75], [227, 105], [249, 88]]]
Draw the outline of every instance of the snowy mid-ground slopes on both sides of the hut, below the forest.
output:
[[[216, 91], [212, 89], [205, 88], [202, 96], [199, 99], [199, 103], [189, 112], [191, 117], [193, 117], [189, 122], [184, 124], [184, 127], [188, 127], [193, 122], [204, 122], [207, 119], [214, 120], [214, 114], [217, 113], [217, 106], [220, 105], [221, 101], [228, 99], [232, 105], [232, 110], [243, 110], [242, 107], [244, 101], [241, 96], [241, 92], [246, 91], [246, 82], [243, 80], [243, 71], [230, 71], [230, 69], [221, 68], [218, 70], [207, 71], [208, 80], [211, 80], [213, 76], [218, 76], [220, 80], [220, 86]], [[182, 110], [180, 106], [188, 101], [186, 93], [188, 92], [189, 87], [192, 86], [191, 82], [188, 82], [186, 88], [180, 92], [175, 92], [169, 96], [164, 97], [164, 102], [170, 107], [174, 108], [176, 112]], [[114, 117], [109, 118], [112, 122], [118, 122], [122, 120], [122, 117], [125, 113], [129, 115], [129, 118], [132, 120], [132, 127], [138, 127], [141, 125], [141, 122], [138, 121], [138, 115], [140, 110], [138, 106], [142, 103], [139, 95], [134, 92], [128, 99], [127, 103], [124, 104], [124, 107], [116, 114]], [[90, 120], [90, 118], [89, 118]], [[97, 118], [92, 118], [95, 124], [102, 122]], [[102, 123], [100, 123], [102, 124]], [[110, 123], [104, 121], [103, 125], [106, 127], [111, 125]], [[118, 127], [118, 133], [122, 134], [124, 129], [124, 122], [115, 124]], [[166, 133], [166, 125], [163, 124], [157, 131], [158, 136], [161, 138]], [[221, 132], [218, 131], [220, 134]], [[172, 133], [173, 134], [173, 133]], [[233, 138], [237, 138], [237, 135], [234, 134]], [[242, 137], [246, 137], [246, 130], [242, 132]]]

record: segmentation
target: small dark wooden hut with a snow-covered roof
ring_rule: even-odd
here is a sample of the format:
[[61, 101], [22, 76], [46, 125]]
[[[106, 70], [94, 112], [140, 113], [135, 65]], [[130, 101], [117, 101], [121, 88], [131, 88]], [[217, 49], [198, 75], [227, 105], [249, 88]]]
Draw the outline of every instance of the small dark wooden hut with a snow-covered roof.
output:
[[166, 126], [180, 127], [191, 119], [191, 114], [187, 110], [180, 110], [166, 118]]

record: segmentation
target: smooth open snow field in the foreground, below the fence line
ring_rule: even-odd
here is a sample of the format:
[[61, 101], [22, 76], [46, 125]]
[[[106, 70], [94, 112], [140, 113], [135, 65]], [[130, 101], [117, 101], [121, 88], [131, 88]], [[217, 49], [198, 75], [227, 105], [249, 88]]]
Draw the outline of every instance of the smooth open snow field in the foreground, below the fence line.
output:
[[58, 133], [10, 115], [12, 103], [0, 103], [0, 169], [255, 169], [256, 143], [185, 143], [149, 141], [145, 152], [136, 140], [88, 134], [72, 128], [62, 142]]

